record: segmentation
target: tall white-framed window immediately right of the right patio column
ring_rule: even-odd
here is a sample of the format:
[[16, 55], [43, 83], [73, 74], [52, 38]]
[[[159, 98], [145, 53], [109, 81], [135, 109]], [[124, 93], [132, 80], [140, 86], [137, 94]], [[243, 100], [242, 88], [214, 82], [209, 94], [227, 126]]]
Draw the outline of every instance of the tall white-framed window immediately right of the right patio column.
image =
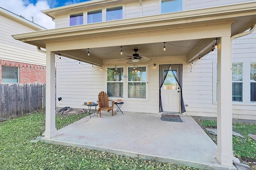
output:
[[243, 101], [243, 63], [232, 64], [232, 101]]

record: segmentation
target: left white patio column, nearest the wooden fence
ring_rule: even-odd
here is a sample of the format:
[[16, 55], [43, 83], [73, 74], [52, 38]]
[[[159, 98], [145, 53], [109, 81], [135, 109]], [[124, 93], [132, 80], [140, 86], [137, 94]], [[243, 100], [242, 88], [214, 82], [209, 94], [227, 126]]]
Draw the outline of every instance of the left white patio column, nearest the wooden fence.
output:
[[55, 127], [55, 53], [46, 52], [46, 109], [45, 109], [45, 138], [57, 135]]

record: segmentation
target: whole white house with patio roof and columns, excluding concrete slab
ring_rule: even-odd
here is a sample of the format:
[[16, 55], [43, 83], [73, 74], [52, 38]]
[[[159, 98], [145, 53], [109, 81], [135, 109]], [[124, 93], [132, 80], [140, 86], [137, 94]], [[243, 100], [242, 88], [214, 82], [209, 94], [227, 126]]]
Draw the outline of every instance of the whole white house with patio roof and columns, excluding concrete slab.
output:
[[13, 37], [46, 49], [45, 138], [56, 135], [55, 102], [86, 108], [105, 91], [122, 111], [217, 117], [216, 159], [232, 166], [232, 118], [256, 119], [255, 0], [91, 0], [42, 12], [56, 29]]

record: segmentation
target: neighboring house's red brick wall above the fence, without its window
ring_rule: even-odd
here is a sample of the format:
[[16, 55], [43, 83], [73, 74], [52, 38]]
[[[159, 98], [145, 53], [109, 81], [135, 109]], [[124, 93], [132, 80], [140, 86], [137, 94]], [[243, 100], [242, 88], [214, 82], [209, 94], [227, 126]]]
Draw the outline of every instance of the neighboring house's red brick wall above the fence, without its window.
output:
[[46, 83], [46, 66], [0, 60], [0, 83], [2, 65], [19, 67], [19, 83]]

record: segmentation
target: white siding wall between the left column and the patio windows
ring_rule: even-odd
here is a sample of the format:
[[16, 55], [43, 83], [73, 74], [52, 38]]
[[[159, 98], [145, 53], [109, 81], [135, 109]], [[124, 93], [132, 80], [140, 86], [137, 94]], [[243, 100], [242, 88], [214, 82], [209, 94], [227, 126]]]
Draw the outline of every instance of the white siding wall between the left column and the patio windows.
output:
[[97, 103], [98, 94], [106, 92], [106, 71], [66, 57], [56, 59], [56, 89], [57, 98], [62, 98], [56, 107], [88, 109], [84, 102]]

